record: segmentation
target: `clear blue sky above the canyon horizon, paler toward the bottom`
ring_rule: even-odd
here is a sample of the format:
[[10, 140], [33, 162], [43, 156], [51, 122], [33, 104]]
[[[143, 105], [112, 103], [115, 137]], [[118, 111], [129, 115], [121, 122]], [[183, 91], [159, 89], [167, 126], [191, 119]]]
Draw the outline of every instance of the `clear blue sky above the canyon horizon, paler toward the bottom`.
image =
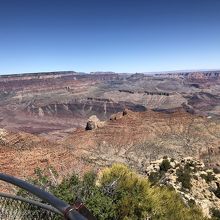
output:
[[0, 73], [220, 69], [219, 0], [1, 0]]

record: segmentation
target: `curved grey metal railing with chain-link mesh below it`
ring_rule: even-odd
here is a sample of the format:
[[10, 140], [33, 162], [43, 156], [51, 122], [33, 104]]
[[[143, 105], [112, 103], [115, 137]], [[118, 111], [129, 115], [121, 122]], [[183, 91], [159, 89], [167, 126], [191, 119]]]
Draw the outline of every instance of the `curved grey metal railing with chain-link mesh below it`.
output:
[[46, 192], [23, 180], [2, 173], [0, 173], [0, 180], [18, 186], [48, 204], [43, 204], [20, 196], [0, 193], [1, 220], [95, 219], [94, 217], [84, 217], [76, 211], [73, 206], [70, 206], [49, 192]]

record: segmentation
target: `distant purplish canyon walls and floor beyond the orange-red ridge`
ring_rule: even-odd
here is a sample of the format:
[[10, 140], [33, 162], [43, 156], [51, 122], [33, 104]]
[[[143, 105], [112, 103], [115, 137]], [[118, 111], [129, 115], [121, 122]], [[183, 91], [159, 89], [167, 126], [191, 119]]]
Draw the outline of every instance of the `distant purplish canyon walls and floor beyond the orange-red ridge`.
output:
[[128, 108], [219, 117], [218, 72], [163, 75], [52, 72], [0, 77], [0, 127], [59, 139], [91, 115]]

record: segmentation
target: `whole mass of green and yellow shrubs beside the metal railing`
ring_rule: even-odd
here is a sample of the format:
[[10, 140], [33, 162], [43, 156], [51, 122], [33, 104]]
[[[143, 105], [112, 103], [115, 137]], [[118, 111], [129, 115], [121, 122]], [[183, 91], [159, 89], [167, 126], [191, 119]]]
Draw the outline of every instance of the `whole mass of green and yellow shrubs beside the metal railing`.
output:
[[[166, 187], [151, 186], [150, 182], [128, 167], [115, 164], [98, 175], [86, 173], [66, 177], [53, 184], [49, 177], [40, 178], [50, 192], [73, 204], [80, 197], [98, 220], [195, 220], [204, 219], [194, 205], [186, 207], [179, 195]], [[42, 183], [42, 180], [34, 180]]]

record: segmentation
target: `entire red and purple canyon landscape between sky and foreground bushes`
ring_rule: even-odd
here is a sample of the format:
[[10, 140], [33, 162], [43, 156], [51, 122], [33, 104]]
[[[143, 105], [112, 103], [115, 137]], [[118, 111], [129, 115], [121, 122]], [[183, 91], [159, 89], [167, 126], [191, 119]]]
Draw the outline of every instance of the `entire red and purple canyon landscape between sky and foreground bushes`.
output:
[[[164, 155], [220, 168], [220, 72], [51, 72], [0, 77], [0, 171], [64, 176]], [[89, 126], [90, 119], [98, 126]], [[87, 126], [88, 127], [88, 126]]]

